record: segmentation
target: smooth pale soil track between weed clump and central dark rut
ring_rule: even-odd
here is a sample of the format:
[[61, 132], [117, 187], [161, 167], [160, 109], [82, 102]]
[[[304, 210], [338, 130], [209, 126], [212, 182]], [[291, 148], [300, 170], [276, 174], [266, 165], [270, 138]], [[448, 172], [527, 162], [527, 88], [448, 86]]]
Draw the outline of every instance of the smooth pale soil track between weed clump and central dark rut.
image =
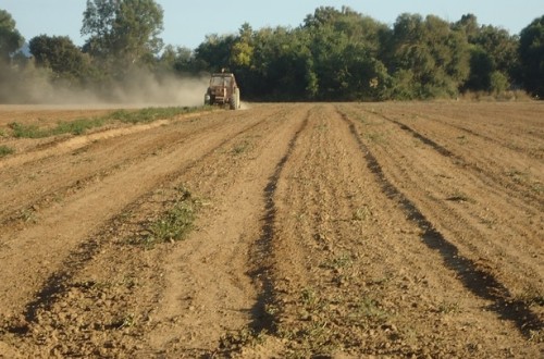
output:
[[[270, 121], [247, 138], [256, 143], [250, 158], [232, 168], [224, 153], [198, 163], [185, 174], [187, 183], [213, 210], [202, 214], [187, 246], [166, 261], [168, 289], [149, 333], [150, 351], [165, 357], [214, 357], [225, 343], [244, 331], [265, 325], [259, 300], [267, 292], [261, 281], [259, 251], [265, 221], [263, 188], [288, 151], [289, 138], [300, 128], [308, 106], [289, 107], [288, 115]], [[217, 163], [224, 163], [219, 169]], [[196, 182], [196, 183], [194, 183]], [[183, 284], [183, 285], [180, 285]], [[242, 327], [242, 329], [240, 329]], [[226, 355], [226, 354], [225, 354]]]

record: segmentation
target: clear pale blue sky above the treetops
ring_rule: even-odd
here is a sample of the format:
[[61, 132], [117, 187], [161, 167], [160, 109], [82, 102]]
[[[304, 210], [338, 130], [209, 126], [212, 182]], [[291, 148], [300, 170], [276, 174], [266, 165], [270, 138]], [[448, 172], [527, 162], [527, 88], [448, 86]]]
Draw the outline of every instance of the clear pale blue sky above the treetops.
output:
[[[433, 14], [448, 22], [472, 13], [481, 25], [499, 26], [510, 34], [544, 15], [544, 0], [156, 0], [164, 10], [165, 44], [195, 49], [209, 34], [237, 33], [245, 22], [254, 29], [300, 25], [319, 7], [347, 5], [372, 18], [393, 25], [401, 13]], [[0, 0], [0, 9], [15, 20], [26, 40], [45, 34], [69, 36], [81, 46], [86, 0]]]

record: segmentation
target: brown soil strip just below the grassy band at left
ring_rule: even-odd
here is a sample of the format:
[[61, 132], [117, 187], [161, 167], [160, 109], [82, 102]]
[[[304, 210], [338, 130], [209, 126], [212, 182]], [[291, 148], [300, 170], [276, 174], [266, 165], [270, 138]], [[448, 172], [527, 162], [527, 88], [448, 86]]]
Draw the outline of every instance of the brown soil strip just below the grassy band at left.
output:
[[[38, 215], [37, 211], [66, 200], [70, 195], [122, 171], [131, 163], [164, 156], [190, 136], [209, 131], [221, 132], [227, 125], [221, 120], [219, 114], [185, 119], [168, 128], [166, 122], [158, 121], [156, 124], [162, 128], [153, 129], [156, 136], [140, 136], [138, 133], [151, 131], [157, 125], [136, 126], [123, 128], [122, 134], [114, 129], [113, 134], [112, 131], [104, 131], [62, 140], [57, 147], [63, 147], [64, 151], [57, 148], [57, 151], [47, 156], [27, 153], [32, 161], [0, 172], [0, 184], [7, 189], [0, 194], [0, 223], [7, 226], [17, 221], [33, 222]], [[123, 139], [119, 139], [120, 136]], [[74, 147], [71, 141], [79, 146]], [[134, 145], [126, 146], [131, 141]], [[72, 156], [65, 156], [69, 153]]]

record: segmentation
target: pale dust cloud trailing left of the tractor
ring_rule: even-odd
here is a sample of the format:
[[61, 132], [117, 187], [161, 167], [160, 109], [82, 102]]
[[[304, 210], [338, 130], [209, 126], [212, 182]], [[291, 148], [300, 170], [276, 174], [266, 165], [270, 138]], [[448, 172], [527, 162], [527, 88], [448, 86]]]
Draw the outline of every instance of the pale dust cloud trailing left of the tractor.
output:
[[50, 74], [34, 69], [0, 81], [0, 103], [77, 108], [197, 107], [203, 104], [209, 75], [156, 74], [131, 71], [123, 81], [75, 85], [51, 81]]

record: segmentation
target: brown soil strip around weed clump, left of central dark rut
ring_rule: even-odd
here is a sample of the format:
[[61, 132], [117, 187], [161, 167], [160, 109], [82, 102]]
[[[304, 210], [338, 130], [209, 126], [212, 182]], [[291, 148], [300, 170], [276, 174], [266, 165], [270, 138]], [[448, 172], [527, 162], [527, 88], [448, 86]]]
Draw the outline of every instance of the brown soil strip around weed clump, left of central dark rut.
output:
[[[202, 189], [207, 208], [213, 208], [212, 213], [208, 213], [213, 219], [208, 219], [208, 224], [199, 224], [203, 226], [201, 231], [206, 233], [197, 235], [197, 238], [189, 238], [184, 243], [187, 247], [171, 248], [172, 252], [164, 248], [159, 248], [153, 253], [154, 249], [141, 251], [131, 246], [126, 247], [126, 237], [131, 237], [131, 225], [124, 225], [123, 219], [124, 222], [127, 220], [134, 222], [134, 216], [146, 218], [149, 213], [145, 214], [145, 212], [150, 211], [146, 206], [153, 208], [153, 201], [160, 203], [164, 201], [161, 197], [168, 196], [156, 190], [150, 194], [150, 198], [140, 198], [131, 208], [124, 209], [125, 214], [120, 215], [106, 228], [106, 232], [99, 234], [98, 240], [90, 240], [96, 248], [91, 250], [91, 253], [82, 251], [86, 260], [75, 265], [64, 263], [65, 270], [72, 272], [70, 276], [62, 277], [60, 273], [57, 273], [51, 278], [59, 282], [54, 283], [55, 293], [48, 294], [54, 301], [46, 302], [41, 299], [34, 304], [35, 308], [32, 308], [32, 315], [28, 317], [34, 317], [35, 323], [30, 323], [30, 329], [26, 330], [29, 333], [26, 344], [29, 347], [26, 350], [29, 350], [33, 344], [39, 343], [40, 337], [44, 336], [52, 337], [52, 339], [46, 341], [44, 348], [34, 351], [35, 354], [49, 351], [71, 355], [74, 350], [79, 350], [87, 355], [111, 355], [123, 350], [124, 352], [139, 352], [139, 355], [160, 355], [160, 352], [174, 355], [205, 349], [211, 352], [218, 347], [221, 336], [225, 334], [225, 327], [235, 330], [245, 326], [251, 315], [244, 309], [236, 310], [235, 307], [243, 306], [249, 311], [255, 300], [255, 296], [251, 296], [251, 292], [255, 292], [254, 283], [246, 272], [247, 253], [251, 251], [250, 247], [259, 234], [260, 215], [255, 206], [262, 201], [261, 185], [264, 186], [269, 175], [267, 171], [270, 170], [261, 165], [267, 162], [265, 157], [281, 156], [279, 149], [284, 145], [276, 144], [274, 138], [275, 131], [280, 129], [279, 126], [283, 127], [280, 131], [282, 133], [293, 131], [292, 128], [297, 125], [287, 123], [281, 111], [274, 110], [268, 115], [264, 113], [264, 111], [261, 112], [256, 120], [256, 125], [246, 126], [238, 134], [228, 136], [208, 157], [200, 158], [189, 168], [172, 175], [169, 183], [173, 182], [173, 184], [156, 183], [160, 185], [160, 193], [175, 193], [177, 186], [175, 184], [180, 183]], [[268, 136], [262, 136], [262, 134], [268, 134]], [[223, 163], [223, 165], [218, 166], [218, 163]], [[240, 174], [238, 169], [242, 172], [248, 172], [249, 177], [236, 178]], [[209, 171], [213, 172], [209, 173]], [[238, 180], [242, 180], [242, 183]], [[249, 190], [255, 198], [248, 194], [247, 182], [255, 182], [255, 185], [249, 186], [255, 187]], [[259, 191], [255, 193], [257, 189]], [[224, 198], [223, 191], [231, 193], [231, 198]], [[223, 201], [226, 203], [221, 205]], [[239, 202], [248, 211], [247, 215], [236, 220], [237, 225], [228, 223], [233, 219], [233, 213], [230, 207], [224, 208], [224, 206], [233, 205], [232, 201]], [[222, 219], [218, 219], [219, 207], [223, 207], [223, 211], [226, 211], [221, 214]], [[254, 218], [255, 227], [248, 226], [250, 216]], [[239, 221], [243, 222], [239, 223]], [[219, 223], [221, 223], [221, 230], [217, 228]], [[120, 227], [118, 228], [115, 224]], [[212, 227], [208, 228], [208, 226]], [[231, 230], [227, 231], [227, 227]], [[214, 233], [211, 237], [210, 231]], [[132, 236], [137, 235], [137, 230], [133, 228]], [[202, 235], [205, 238], [199, 238]], [[88, 249], [90, 245], [86, 247]], [[208, 253], [203, 255], [203, 252]], [[77, 253], [72, 257], [71, 260], [75, 263]], [[223, 260], [224, 264], [220, 265]], [[236, 269], [234, 263], [238, 263], [239, 269]], [[210, 264], [213, 265], [212, 270], [207, 270]], [[200, 268], [202, 265], [205, 268]], [[102, 273], [97, 275], [100, 268], [102, 268]], [[182, 276], [180, 283], [185, 284], [183, 287], [175, 284], [177, 283], [175, 280], [180, 276]], [[138, 285], [140, 281], [146, 284]], [[202, 287], [203, 285], [206, 287]], [[234, 290], [236, 294], [230, 300], [225, 298], [225, 293], [228, 290]], [[240, 290], [244, 297], [239, 295]], [[45, 292], [48, 290], [45, 289]], [[199, 297], [199, 293], [207, 294]], [[213, 296], [212, 293], [217, 294]], [[137, 298], [131, 299], [129, 295]], [[195, 296], [191, 302], [206, 304], [206, 306], [198, 305], [187, 309], [185, 301], [190, 296]], [[92, 304], [90, 299], [97, 302]], [[65, 308], [71, 309], [67, 318]], [[96, 310], [89, 312], [89, 308], [96, 308]], [[208, 311], [208, 314], [201, 315], [202, 310]], [[100, 312], [99, 315], [97, 315], [98, 312]], [[232, 312], [231, 315], [234, 319], [225, 320], [224, 317], [228, 317], [228, 312]], [[206, 318], [206, 323], [198, 323], [199, 320], [195, 318], [184, 320], [183, 323], [178, 321], [181, 317], [190, 315]], [[223, 319], [218, 320], [213, 318], [214, 315], [223, 315]], [[77, 318], [77, 321], [71, 323], [74, 318]], [[222, 325], [218, 327], [218, 324]], [[148, 334], [150, 338], [146, 345], [147, 341], [144, 341], [143, 336], [144, 330], [148, 327], [153, 327], [153, 331]], [[12, 329], [12, 332], [16, 331], [17, 327]], [[109, 339], [104, 339], [107, 333], [109, 333]], [[189, 333], [193, 339], [182, 341], [184, 345], [180, 347], [181, 338]], [[131, 343], [126, 336], [139, 339], [137, 343]], [[198, 343], [201, 345], [199, 346]], [[101, 348], [103, 345], [106, 348]]]

